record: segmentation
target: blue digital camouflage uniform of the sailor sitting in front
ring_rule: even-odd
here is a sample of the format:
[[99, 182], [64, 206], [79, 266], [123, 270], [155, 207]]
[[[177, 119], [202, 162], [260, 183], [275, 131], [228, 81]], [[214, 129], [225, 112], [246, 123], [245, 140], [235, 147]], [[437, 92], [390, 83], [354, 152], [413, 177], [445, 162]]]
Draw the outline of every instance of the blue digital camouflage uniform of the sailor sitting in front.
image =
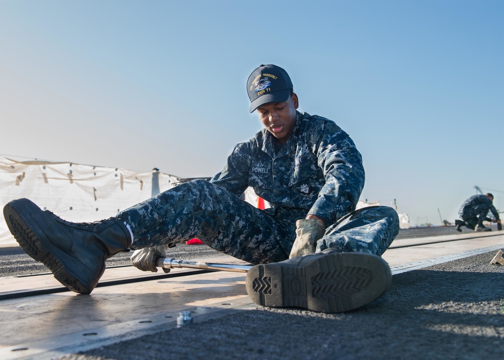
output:
[[[273, 142], [263, 129], [236, 145], [210, 182], [183, 183], [120, 212], [132, 229], [132, 248], [197, 237], [251, 264], [279, 262], [289, 257], [296, 220], [313, 214], [328, 225], [317, 252], [382, 255], [399, 231], [399, 219], [390, 207], [354, 211], [364, 169], [352, 139], [334, 122], [297, 111], [293, 133], [278, 153]], [[249, 186], [271, 208], [241, 200]]]

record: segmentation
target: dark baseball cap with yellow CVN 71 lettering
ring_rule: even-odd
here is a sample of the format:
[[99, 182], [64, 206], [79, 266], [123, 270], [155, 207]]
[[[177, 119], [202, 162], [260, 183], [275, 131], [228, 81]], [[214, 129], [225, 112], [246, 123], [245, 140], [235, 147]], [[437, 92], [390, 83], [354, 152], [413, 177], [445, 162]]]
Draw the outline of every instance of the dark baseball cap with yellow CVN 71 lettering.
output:
[[268, 102], [286, 101], [292, 88], [292, 81], [285, 70], [272, 64], [259, 66], [247, 81], [250, 112]]

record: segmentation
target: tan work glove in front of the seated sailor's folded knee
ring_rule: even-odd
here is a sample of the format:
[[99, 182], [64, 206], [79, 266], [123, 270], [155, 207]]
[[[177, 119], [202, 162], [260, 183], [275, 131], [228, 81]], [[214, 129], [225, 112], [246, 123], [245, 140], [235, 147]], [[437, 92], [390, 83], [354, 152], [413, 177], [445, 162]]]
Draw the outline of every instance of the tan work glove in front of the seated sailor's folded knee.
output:
[[307, 254], [314, 254], [317, 241], [324, 236], [326, 227], [316, 219], [304, 219], [296, 221], [296, 239], [289, 259]]

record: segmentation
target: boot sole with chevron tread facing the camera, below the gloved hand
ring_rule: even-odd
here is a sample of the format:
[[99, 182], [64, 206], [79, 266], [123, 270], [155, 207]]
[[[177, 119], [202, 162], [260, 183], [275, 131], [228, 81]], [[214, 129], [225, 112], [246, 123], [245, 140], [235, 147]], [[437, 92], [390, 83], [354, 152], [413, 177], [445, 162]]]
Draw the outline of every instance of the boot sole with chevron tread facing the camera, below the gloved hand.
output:
[[376, 255], [330, 253], [306, 260], [248, 270], [246, 290], [252, 301], [273, 308], [341, 313], [380, 297], [392, 282], [389, 265]]

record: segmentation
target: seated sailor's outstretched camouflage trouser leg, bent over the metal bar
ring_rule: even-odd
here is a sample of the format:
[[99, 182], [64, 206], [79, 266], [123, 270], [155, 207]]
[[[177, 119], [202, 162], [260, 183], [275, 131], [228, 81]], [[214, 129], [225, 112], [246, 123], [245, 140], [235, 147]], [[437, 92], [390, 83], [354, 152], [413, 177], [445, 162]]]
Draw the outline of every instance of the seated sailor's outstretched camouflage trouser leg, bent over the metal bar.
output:
[[[117, 217], [133, 232], [132, 248], [181, 243], [199, 238], [213, 249], [252, 264], [281, 261], [294, 228], [204, 180], [165, 191], [121, 211]], [[285, 247], [285, 246], [284, 246]]]

